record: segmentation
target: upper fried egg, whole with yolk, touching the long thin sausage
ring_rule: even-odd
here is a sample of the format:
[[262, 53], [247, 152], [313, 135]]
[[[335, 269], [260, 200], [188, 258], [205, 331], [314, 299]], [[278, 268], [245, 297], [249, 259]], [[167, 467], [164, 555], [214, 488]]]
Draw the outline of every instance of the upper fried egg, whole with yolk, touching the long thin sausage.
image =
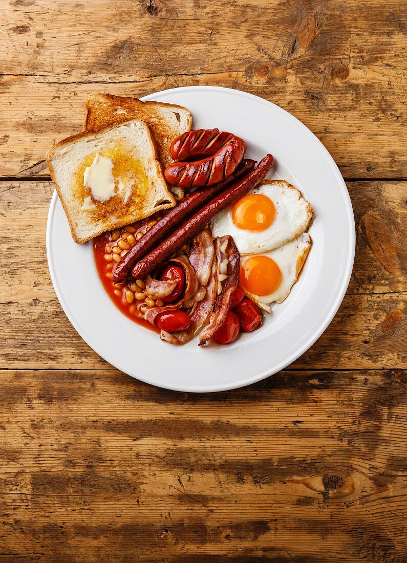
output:
[[280, 247], [310, 225], [312, 207], [284, 180], [264, 180], [218, 215], [213, 236], [231, 235], [240, 254], [256, 254]]

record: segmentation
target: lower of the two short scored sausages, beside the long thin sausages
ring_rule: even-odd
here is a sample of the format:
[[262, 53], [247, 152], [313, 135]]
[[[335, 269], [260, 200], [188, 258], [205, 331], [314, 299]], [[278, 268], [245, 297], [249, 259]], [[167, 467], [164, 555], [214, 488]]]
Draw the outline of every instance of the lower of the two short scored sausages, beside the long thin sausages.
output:
[[173, 162], [164, 170], [168, 184], [179, 187], [203, 187], [218, 184], [235, 170], [244, 157], [245, 142], [232, 138], [211, 157], [195, 162]]

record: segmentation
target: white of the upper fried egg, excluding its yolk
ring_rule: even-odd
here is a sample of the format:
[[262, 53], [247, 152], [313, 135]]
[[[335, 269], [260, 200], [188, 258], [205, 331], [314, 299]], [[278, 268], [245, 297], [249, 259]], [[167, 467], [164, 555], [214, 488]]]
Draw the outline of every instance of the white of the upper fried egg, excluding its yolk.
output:
[[312, 207], [294, 186], [284, 180], [264, 180], [249, 194], [271, 199], [276, 216], [268, 229], [247, 231], [232, 221], [232, 210], [218, 215], [211, 224], [213, 236], [231, 235], [240, 254], [260, 254], [280, 247], [303, 233], [312, 219]]

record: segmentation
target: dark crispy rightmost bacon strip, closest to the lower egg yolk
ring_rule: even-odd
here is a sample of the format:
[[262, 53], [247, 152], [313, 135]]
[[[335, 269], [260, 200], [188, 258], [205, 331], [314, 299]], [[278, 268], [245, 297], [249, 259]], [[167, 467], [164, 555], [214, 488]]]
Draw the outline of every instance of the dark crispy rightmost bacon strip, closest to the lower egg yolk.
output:
[[[218, 267], [218, 294], [209, 317], [209, 324], [200, 334], [199, 346], [205, 345], [225, 320], [230, 309], [232, 295], [239, 285], [240, 254], [232, 237], [225, 235], [216, 238], [215, 251]], [[220, 279], [223, 269], [227, 270], [227, 277], [222, 284]]]

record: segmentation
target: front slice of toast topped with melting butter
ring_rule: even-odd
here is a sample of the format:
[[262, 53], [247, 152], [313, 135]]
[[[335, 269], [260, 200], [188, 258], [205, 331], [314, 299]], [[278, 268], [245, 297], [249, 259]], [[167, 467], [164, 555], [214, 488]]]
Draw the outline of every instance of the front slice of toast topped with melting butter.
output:
[[176, 204], [142, 121], [68, 137], [46, 160], [77, 243]]

